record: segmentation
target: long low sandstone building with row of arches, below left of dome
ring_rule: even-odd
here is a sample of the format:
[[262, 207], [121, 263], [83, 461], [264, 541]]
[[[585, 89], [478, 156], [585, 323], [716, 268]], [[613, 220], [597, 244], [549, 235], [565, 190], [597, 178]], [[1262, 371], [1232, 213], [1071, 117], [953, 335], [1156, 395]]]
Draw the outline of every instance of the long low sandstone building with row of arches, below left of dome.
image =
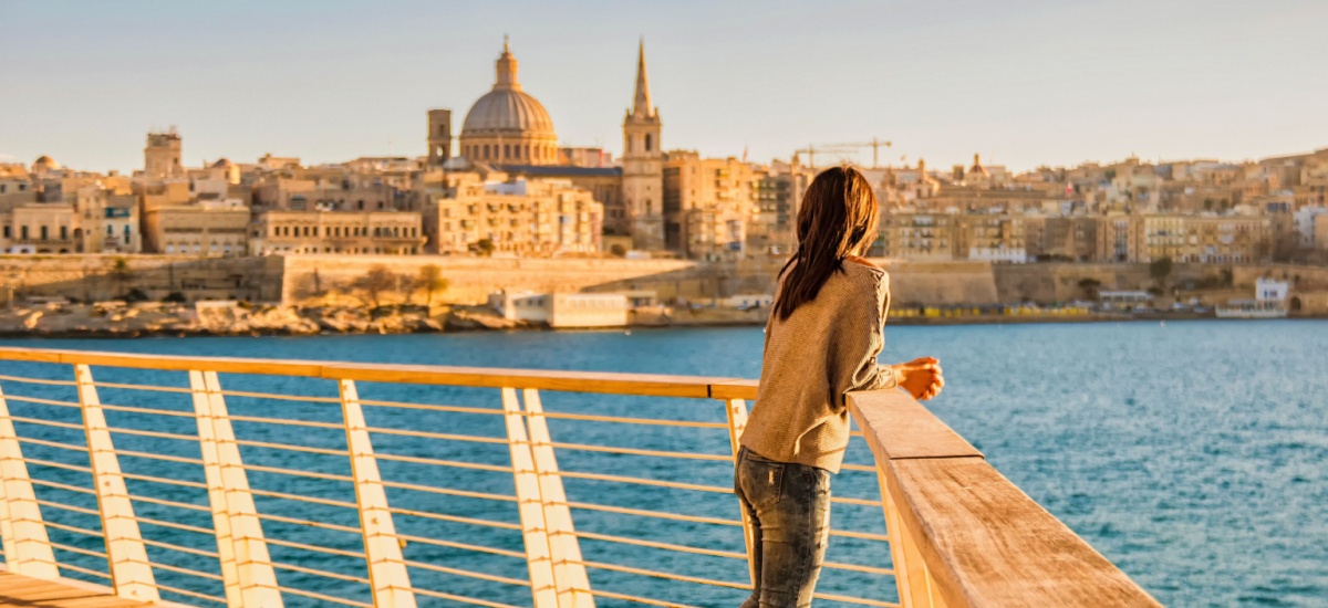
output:
[[251, 255], [416, 255], [424, 243], [412, 211], [263, 211], [250, 230]]

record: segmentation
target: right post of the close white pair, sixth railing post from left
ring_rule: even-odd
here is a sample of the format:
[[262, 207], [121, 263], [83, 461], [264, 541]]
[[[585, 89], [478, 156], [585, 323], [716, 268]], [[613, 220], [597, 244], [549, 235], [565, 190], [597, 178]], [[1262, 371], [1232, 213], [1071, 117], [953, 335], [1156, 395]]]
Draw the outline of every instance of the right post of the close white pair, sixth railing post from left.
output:
[[567, 507], [563, 478], [558, 474], [558, 458], [554, 455], [552, 437], [548, 434], [548, 422], [539, 401], [539, 390], [525, 389], [522, 397], [526, 406], [526, 423], [530, 427], [535, 474], [539, 477], [539, 498], [544, 511], [544, 524], [548, 528], [548, 555], [554, 566], [558, 608], [592, 608], [595, 597], [590, 595], [590, 577], [586, 576], [580, 542], [572, 527], [572, 512]]

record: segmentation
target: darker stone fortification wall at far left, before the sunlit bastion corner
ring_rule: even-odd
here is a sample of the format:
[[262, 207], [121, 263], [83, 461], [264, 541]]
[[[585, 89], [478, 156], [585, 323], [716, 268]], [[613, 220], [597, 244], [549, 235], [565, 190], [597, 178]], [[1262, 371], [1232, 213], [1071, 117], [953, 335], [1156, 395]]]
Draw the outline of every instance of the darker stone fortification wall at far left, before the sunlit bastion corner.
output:
[[0, 256], [0, 301], [9, 288], [16, 299], [98, 301], [138, 289], [151, 300], [179, 292], [190, 301], [278, 301], [282, 271], [278, 258], [9, 255]]

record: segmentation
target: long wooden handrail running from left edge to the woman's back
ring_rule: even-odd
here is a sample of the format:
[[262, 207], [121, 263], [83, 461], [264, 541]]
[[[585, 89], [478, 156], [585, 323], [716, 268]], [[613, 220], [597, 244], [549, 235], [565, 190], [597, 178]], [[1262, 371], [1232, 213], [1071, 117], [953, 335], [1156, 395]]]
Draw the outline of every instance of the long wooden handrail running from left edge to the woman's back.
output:
[[651, 397], [756, 398], [756, 381], [736, 377], [197, 357], [163, 353], [117, 353], [17, 346], [0, 346], [0, 361], [101, 365], [174, 372], [198, 370], [300, 376], [328, 380], [359, 380], [365, 382], [566, 390]]

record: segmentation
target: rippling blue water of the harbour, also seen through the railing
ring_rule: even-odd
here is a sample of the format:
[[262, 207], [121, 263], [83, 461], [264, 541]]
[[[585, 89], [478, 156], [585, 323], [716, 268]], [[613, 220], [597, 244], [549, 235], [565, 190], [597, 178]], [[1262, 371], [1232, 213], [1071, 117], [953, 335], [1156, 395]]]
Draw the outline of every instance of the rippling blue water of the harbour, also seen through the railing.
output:
[[[421, 336], [337, 336], [313, 339], [187, 339], [187, 340], [8, 340], [0, 344], [133, 350], [150, 353], [335, 358], [352, 361], [619, 370], [675, 374], [756, 377], [760, 370], [761, 331], [671, 329], [623, 332], [527, 332]], [[900, 327], [887, 329], [884, 360], [936, 356], [946, 368], [944, 394], [934, 412], [973, 442], [1012, 482], [1089, 540], [1161, 601], [1169, 605], [1328, 605], [1328, 323], [1324, 321], [1190, 321], [1159, 327], [1150, 323], [1065, 325]], [[65, 369], [36, 364], [0, 364], [0, 373], [66, 377]], [[97, 380], [161, 382], [187, 386], [179, 373], [97, 369]], [[235, 390], [335, 397], [325, 381], [223, 376]], [[72, 389], [4, 382], [9, 394], [73, 400]], [[361, 396], [424, 404], [497, 408], [494, 390], [425, 386], [361, 386]], [[190, 409], [187, 394], [154, 394], [104, 389], [108, 404], [159, 409]], [[282, 404], [231, 397], [232, 414], [282, 416], [339, 422], [331, 404]], [[701, 400], [651, 400], [590, 394], [544, 394], [551, 412], [606, 413], [721, 422], [722, 410]], [[11, 402], [15, 416], [45, 416], [77, 421], [77, 412]], [[193, 434], [193, 419], [112, 412], [114, 426]], [[501, 417], [369, 408], [369, 423], [381, 427], [424, 429], [502, 437]], [[554, 441], [687, 450], [724, 454], [722, 430], [625, 427], [623, 425], [551, 421]], [[643, 431], [641, 429], [645, 429]], [[20, 434], [77, 443], [81, 431], [20, 425]], [[344, 449], [344, 435], [332, 430], [236, 423], [240, 438]], [[117, 447], [197, 458], [194, 445], [182, 441], [116, 435]], [[384, 453], [507, 465], [506, 446], [442, 443], [397, 435], [374, 435]], [[28, 455], [77, 463], [77, 454], [25, 446]], [[287, 466], [345, 474], [344, 458], [246, 449], [250, 465]], [[850, 450], [851, 462], [870, 462], [865, 446]], [[86, 458], [84, 457], [84, 463]], [[732, 483], [717, 463], [600, 453], [559, 451], [566, 470], [618, 473], [713, 486]], [[125, 458], [126, 471], [202, 481], [201, 470], [167, 466], [158, 461]], [[510, 475], [489, 471], [448, 471], [400, 462], [381, 465], [388, 479], [474, 491], [511, 494]], [[86, 486], [86, 475], [35, 467], [39, 478]], [[276, 474], [251, 474], [259, 489], [348, 499], [349, 485], [295, 481]], [[874, 479], [845, 473], [835, 493], [874, 498]], [[130, 482], [130, 491], [206, 504], [206, 494], [150, 482]], [[572, 500], [635, 508], [733, 518], [732, 496], [681, 493], [653, 487], [627, 487], [568, 479]], [[78, 495], [40, 489], [53, 499], [73, 502]], [[393, 506], [482, 516], [515, 523], [510, 503], [438, 496], [405, 490], [389, 491]], [[336, 507], [303, 506], [259, 498], [264, 512], [279, 512], [356, 526], [353, 512]], [[210, 527], [207, 512], [135, 504], [139, 515]], [[48, 520], [96, 528], [96, 518], [44, 507]], [[741, 551], [736, 528], [681, 524], [596, 511], [576, 511], [578, 530], [667, 539], [699, 547]], [[60, 519], [64, 518], [64, 519]], [[84, 518], [84, 519], [80, 519]], [[89, 520], [90, 519], [90, 520]], [[519, 550], [519, 532], [475, 528], [456, 523], [398, 518], [406, 534], [489, 547]], [[879, 510], [837, 504], [839, 528], [882, 532]], [[147, 526], [145, 536], [207, 548], [208, 538]], [[359, 551], [356, 535], [309, 532], [299, 526], [264, 522], [268, 538]], [[53, 539], [100, 548], [76, 535], [53, 531]], [[647, 548], [583, 540], [587, 559], [665, 570], [692, 576], [741, 581], [741, 563], [721, 558], [679, 556]], [[150, 547], [154, 560], [215, 571], [208, 560]], [[348, 558], [311, 559], [307, 552], [272, 547], [279, 562], [356, 573]], [[445, 563], [465, 556], [466, 567], [522, 577], [525, 564], [507, 556], [475, 556], [454, 548], [412, 543], [406, 558]], [[97, 567], [97, 560], [61, 552], [69, 563]], [[879, 543], [835, 538], [831, 560], [888, 563]], [[363, 562], [361, 562], [363, 564]], [[77, 575], [72, 575], [77, 576]], [[360, 600], [363, 585], [328, 581], [279, 571], [283, 584], [343, 593]], [[162, 581], [219, 595], [219, 584], [158, 572]], [[186, 580], [189, 579], [189, 580]], [[96, 580], [96, 579], [89, 579]], [[494, 601], [529, 604], [529, 589], [412, 570], [421, 587]], [[736, 605], [738, 591], [680, 585], [618, 572], [591, 571], [596, 588], [648, 595], [700, 605]], [[891, 600], [891, 579], [831, 571], [821, 589]], [[181, 597], [175, 597], [181, 599]], [[291, 597], [290, 605], [299, 604]], [[308, 600], [309, 604], [319, 604]], [[426, 605], [450, 605], [425, 600]], [[602, 600], [602, 605], [615, 605]], [[821, 605], [821, 604], [818, 604]], [[825, 603], [825, 605], [833, 605]]]

